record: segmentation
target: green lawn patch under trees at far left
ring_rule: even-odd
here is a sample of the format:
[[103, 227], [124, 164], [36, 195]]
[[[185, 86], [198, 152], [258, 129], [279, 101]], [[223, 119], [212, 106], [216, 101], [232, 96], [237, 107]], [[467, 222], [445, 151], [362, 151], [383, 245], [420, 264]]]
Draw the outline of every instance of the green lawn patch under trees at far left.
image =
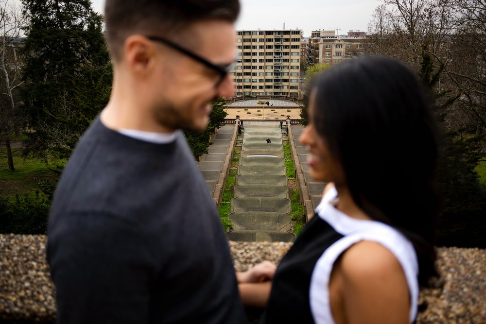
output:
[[43, 160], [24, 158], [19, 151], [14, 154], [15, 171], [8, 171], [6, 149], [0, 149], [0, 196], [23, 194], [35, 189], [40, 180], [56, 178]]

